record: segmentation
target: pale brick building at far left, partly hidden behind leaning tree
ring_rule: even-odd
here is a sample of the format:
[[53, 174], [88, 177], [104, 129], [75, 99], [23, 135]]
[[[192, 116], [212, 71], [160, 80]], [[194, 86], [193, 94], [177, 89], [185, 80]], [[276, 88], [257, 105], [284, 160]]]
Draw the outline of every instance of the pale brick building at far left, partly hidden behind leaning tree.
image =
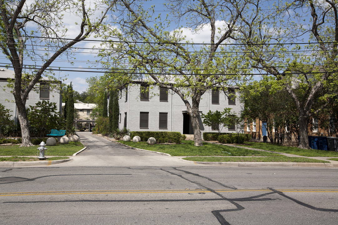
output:
[[[0, 103], [5, 106], [5, 109], [9, 109], [10, 119], [17, 120], [17, 108], [15, 104], [14, 95], [11, 93], [11, 88], [6, 87], [8, 84], [7, 79], [14, 79], [14, 71], [10, 69], [0, 68]], [[37, 102], [45, 100], [49, 102], [55, 102], [57, 111], [61, 113], [62, 96], [57, 90], [53, 90], [52, 86], [46, 83], [47, 81], [38, 82], [35, 85], [35, 90], [31, 90], [28, 94], [26, 101], [26, 108], [34, 106]], [[54, 81], [53, 81], [54, 82]], [[55, 81], [54, 85], [61, 87], [61, 81]]]

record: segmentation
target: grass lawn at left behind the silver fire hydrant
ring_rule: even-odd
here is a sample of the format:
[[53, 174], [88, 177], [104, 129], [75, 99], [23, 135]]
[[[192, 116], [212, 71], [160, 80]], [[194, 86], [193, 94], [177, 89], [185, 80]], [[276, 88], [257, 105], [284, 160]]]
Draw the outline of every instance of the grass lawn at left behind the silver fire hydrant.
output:
[[[31, 147], [20, 147], [20, 145], [0, 145], [0, 156], [37, 156], [39, 145]], [[69, 144], [56, 144], [46, 146], [45, 156], [72, 156], [84, 146], [80, 142], [69, 142]]]

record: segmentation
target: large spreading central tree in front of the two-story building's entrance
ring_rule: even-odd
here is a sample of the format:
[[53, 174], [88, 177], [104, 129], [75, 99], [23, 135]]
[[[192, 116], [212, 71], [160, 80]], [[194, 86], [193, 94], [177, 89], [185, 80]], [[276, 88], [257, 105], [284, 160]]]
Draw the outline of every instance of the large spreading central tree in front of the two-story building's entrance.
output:
[[[238, 28], [240, 13], [251, 3], [169, 0], [165, 7], [170, 13], [164, 17], [155, 15], [154, 6], [143, 8], [143, 3], [142, 0], [117, 1], [120, 15], [114, 17], [120, 19], [121, 29], [106, 27], [103, 38], [118, 37], [120, 42], [111, 44], [110, 51], [105, 48], [101, 52], [101, 57], [106, 59], [104, 66], [115, 69], [112, 76], [116, 80], [128, 77], [130, 83], [133, 79], [145, 81], [150, 88], [159, 86], [178, 94], [190, 115], [195, 146], [202, 146], [198, 120], [201, 96], [210, 90], [227, 91], [243, 80], [241, 73], [248, 67], [240, 54], [234, 56], [223, 44], [230, 40]], [[218, 26], [219, 20], [225, 21], [224, 24]], [[172, 29], [171, 22], [179, 27]], [[196, 45], [187, 40], [183, 32], [188, 29], [180, 27], [185, 22], [195, 33], [208, 33], [210, 44]], [[123, 71], [118, 71], [120, 68]]]

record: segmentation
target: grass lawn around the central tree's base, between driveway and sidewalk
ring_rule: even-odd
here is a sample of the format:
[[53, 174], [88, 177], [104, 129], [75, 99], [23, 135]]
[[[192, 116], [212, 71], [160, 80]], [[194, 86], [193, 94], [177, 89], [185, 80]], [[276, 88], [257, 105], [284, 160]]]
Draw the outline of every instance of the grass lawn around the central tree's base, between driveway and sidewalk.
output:
[[[280, 154], [271, 152], [248, 150], [244, 148], [210, 144], [207, 142], [203, 142], [202, 147], [194, 146], [194, 141], [182, 141], [182, 144], [155, 144], [155, 145], [148, 145], [147, 142], [139, 142], [139, 143], [134, 143], [132, 141], [128, 142], [119, 141], [119, 142], [135, 148], [168, 153], [171, 154], [172, 156], [275, 156], [275, 157], [281, 156]], [[231, 154], [227, 152], [230, 152]]]

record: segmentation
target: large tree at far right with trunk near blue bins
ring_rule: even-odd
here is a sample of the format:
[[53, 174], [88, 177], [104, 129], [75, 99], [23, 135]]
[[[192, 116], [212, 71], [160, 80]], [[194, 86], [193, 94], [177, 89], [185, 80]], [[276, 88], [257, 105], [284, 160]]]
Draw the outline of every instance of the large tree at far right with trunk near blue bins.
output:
[[[275, 87], [288, 92], [298, 112], [298, 147], [309, 148], [309, 118], [338, 94], [338, 2], [268, 3], [240, 13], [233, 39], [253, 68], [275, 76]], [[315, 107], [318, 95], [321, 104]]]

